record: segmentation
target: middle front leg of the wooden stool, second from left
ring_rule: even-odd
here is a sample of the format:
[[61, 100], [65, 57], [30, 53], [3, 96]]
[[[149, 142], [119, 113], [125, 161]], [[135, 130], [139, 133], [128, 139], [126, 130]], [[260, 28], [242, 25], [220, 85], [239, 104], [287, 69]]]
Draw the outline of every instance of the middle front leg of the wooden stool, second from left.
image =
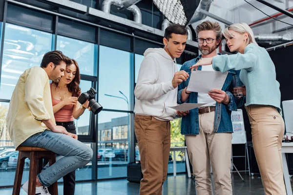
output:
[[36, 177], [38, 169], [38, 159], [36, 152], [30, 153], [30, 165], [29, 165], [29, 181], [28, 181], [28, 195], [36, 194]]

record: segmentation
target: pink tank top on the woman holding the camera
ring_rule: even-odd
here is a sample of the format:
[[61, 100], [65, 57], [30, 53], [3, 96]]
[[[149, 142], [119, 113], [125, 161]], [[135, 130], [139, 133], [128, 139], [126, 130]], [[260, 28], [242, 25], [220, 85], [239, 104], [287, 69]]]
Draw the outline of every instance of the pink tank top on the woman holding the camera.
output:
[[[50, 84], [50, 88], [51, 88], [52, 104], [53, 104], [53, 106], [55, 106], [56, 104], [60, 103], [61, 100], [53, 98], [53, 95], [52, 95], [52, 83]], [[74, 117], [72, 115], [73, 114], [73, 108], [74, 108], [74, 105], [63, 106], [63, 108], [61, 108], [57, 113], [54, 114], [56, 122], [73, 121], [74, 120]]]

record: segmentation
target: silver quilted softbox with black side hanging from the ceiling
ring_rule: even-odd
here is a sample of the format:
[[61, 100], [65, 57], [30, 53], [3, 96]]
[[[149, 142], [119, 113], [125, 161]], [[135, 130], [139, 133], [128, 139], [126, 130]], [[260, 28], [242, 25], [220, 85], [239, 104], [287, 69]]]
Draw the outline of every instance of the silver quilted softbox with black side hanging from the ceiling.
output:
[[153, 2], [170, 22], [186, 26], [200, 0], [153, 0]]

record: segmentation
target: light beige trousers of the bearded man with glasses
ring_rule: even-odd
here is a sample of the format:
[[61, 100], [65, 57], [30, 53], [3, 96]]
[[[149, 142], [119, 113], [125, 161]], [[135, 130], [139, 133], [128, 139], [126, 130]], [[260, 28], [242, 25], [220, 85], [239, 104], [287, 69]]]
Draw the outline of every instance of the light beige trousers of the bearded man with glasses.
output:
[[215, 195], [232, 195], [231, 133], [214, 133], [215, 112], [199, 115], [199, 135], [185, 136], [195, 176], [197, 195], [212, 195], [210, 164]]

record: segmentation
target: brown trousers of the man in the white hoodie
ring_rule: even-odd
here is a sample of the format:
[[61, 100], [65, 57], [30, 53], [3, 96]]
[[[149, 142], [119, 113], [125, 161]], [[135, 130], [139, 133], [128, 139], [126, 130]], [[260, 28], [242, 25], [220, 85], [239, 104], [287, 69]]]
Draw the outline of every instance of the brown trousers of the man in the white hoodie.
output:
[[170, 153], [170, 121], [135, 115], [134, 131], [144, 175], [140, 195], [162, 195]]

